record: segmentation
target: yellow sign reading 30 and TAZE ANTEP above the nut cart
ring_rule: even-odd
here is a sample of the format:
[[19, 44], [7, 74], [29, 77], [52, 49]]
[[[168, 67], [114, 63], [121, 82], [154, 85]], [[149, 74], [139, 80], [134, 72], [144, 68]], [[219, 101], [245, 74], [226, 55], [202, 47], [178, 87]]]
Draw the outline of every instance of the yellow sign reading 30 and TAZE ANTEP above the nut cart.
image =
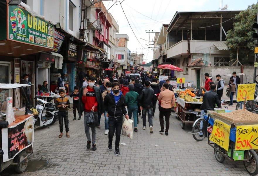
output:
[[[239, 84], [237, 87], [237, 101], [254, 100], [255, 83]], [[245, 99], [246, 97], [246, 99]]]

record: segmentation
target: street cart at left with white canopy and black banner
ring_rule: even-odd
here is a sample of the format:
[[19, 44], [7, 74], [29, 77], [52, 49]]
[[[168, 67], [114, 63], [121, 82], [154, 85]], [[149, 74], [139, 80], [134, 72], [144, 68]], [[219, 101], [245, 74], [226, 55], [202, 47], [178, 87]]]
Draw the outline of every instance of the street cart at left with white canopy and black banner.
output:
[[[30, 85], [0, 83], [0, 89], [16, 89], [28, 86]], [[28, 154], [33, 153], [33, 115], [25, 115], [25, 111], [14, 111], [14, 117], [15, 121], [5, 127], [1, 124], [5, 121], [0, 121], [0, 140], [3, 151], [0, 153], [0, 172], [9, 165], [14, 165], [14, 169], [18, 173], [25, 171], [28, 165]]]

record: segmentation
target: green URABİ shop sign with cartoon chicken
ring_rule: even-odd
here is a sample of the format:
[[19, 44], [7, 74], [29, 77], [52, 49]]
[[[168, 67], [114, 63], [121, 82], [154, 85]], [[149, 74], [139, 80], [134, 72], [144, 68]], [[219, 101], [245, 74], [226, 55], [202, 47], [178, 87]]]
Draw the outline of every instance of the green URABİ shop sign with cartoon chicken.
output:
[[54, 48], [54, 26], [19, 6], [9, 6], [9, 39]]

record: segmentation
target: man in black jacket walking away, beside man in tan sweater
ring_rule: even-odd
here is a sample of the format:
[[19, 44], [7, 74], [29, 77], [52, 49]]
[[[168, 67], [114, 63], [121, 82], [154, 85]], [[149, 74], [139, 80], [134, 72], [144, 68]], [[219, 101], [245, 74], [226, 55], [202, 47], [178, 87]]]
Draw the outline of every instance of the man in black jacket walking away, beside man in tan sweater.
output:
[[150, 81], [145, 81], [145, 89], [142, 90], [140, 100], [140, 110], [142, 111], [143, 128], [146, 130], [146, 113], [148, 113], [150, 133], [153, 133], [152, 128], [152, 111], [155, 102], [154, 90], [150, 87]]

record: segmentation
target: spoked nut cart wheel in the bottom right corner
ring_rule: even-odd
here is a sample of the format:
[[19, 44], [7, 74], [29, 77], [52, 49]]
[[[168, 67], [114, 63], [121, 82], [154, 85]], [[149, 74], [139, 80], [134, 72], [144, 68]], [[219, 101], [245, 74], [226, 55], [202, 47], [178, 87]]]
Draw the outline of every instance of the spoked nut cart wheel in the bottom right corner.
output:
[[[248, 154], [248, 155], [247, 155]], [[244, 159], [248, 159], [248, 161], [244, 161], [245, 169], [250, 175], [258, 174], [258, 156], [254, 150], [246, 150], [244, 154]]]

